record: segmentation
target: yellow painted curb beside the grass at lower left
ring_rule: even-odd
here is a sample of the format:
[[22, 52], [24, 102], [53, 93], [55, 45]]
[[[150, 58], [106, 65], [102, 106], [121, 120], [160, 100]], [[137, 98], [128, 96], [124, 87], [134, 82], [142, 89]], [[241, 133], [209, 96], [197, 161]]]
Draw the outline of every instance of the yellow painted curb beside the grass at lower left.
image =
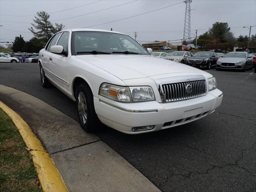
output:
[[38, 173], [41, 188], [44, 192], [68, 192], [66, 185], [49, 154], [44, 150], [40, 140], [34, 135], [28, 124], [12, 109], [0, 101], [0, 108], [12, 118], [30, 154]]

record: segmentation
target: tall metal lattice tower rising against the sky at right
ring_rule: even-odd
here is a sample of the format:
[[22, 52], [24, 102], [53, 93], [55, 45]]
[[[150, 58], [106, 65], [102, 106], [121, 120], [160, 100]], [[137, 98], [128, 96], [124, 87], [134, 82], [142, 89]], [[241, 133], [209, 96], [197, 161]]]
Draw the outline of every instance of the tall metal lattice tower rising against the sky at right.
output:
[[191, 14], [190, 14], [190, 3], [192, 0], [185, 0], [186, 3], [186, 12], [185, 12], [185, 22], [184, 22], [184, 32], [183, 32], [183, 40], [188, 39], [191, 41]]

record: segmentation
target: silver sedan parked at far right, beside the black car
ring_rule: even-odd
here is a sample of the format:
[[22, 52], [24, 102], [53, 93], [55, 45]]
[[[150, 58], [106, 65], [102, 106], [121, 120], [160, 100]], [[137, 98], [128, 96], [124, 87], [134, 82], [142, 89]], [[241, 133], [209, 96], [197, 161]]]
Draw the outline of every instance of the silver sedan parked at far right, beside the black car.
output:
[[229, 52], [217, 61], [216, 70], [221, 68], [246, 71], [252, 69], [253, 58], [248, 52]]

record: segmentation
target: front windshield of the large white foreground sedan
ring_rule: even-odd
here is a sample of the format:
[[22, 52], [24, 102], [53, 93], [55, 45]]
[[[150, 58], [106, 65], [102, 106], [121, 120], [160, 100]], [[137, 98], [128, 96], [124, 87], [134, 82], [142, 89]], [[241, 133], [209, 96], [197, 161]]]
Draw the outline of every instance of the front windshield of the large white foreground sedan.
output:
[[110, 54], [134, 52], [149, 55], [144, 47], [127, 35], [98, 31], [72, 32], [72, 55], [103, 54], [103, 52]]

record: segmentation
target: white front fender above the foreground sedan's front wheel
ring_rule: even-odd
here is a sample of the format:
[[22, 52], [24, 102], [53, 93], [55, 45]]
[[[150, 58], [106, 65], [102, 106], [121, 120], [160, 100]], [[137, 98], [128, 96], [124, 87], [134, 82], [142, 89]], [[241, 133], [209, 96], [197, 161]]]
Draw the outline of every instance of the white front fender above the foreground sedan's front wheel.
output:
[[[88, 55], [88, 57], [92, 56], [94, 55]], [[73, 86], [76, 78], [85, 80], [95, 97], [98, 97], [100, 85], [104, 82], [126, 86], [126, 84], [116, 76], [73, 55], [70, 57], [68, 65], [66, 66], [66, 81], [70, 84], [67, 88], [67, 92], [73, 100], [75, 100]]]

